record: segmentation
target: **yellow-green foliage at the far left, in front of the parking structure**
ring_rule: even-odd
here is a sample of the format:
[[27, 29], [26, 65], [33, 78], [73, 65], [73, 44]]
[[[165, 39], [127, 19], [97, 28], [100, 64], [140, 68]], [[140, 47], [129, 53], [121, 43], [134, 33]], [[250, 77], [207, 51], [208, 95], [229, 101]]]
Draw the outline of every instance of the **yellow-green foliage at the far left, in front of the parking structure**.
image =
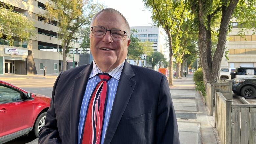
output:
[[35, 35], [34, 22], [14, 10], [10, 5], [0, 4], [0, 38], [8, 40], [10, 46], [13, 46], [14, 39], [21, 45]]

